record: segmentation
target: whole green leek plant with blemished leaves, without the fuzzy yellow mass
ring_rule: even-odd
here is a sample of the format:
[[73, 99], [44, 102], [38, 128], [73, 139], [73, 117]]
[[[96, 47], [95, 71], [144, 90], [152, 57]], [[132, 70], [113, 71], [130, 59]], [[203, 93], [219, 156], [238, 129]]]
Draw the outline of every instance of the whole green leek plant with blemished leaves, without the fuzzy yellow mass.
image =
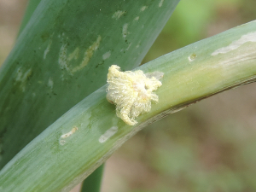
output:
[[[0, 71], [1, 191], [68, 191], [144, 126], [255, 81], [255, 21], [138, 67], [178, 2], [42, 0], [29, 6]], [[136, 125], [119, 119], [106, 99], [113, 64], [163, 73], [159, 102]], [[99, 190], [102, 167], [98, 172], [85, 179], [83, 191]]]

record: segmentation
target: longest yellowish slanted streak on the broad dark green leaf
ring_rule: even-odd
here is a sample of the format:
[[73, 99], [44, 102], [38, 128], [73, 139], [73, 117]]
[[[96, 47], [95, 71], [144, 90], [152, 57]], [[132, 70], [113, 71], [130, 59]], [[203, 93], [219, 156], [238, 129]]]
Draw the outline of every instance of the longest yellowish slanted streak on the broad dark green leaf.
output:
[[92, 57], [96, 49], [98, 49], [98, 47], [100, 46], [101, 40], [102, 37], [98, 36], [96, 41], [93, 44], [91, 44], [90, 47], [85, 51], [83, 61], [80, 63], [79, 66], [73, 68], [72, 73], [76, 73], [77, 71], [87, 66], [87, 64], [90, 61], [90, 58]]

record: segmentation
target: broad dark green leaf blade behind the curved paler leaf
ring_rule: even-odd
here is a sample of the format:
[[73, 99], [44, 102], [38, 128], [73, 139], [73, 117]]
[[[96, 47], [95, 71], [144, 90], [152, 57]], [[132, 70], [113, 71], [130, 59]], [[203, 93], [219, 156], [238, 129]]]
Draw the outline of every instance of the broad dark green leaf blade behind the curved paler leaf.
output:
[[177, 3], [39, 3], [0, 71], [0, 168], [105, 84], [110, 65], [138, 66]]

